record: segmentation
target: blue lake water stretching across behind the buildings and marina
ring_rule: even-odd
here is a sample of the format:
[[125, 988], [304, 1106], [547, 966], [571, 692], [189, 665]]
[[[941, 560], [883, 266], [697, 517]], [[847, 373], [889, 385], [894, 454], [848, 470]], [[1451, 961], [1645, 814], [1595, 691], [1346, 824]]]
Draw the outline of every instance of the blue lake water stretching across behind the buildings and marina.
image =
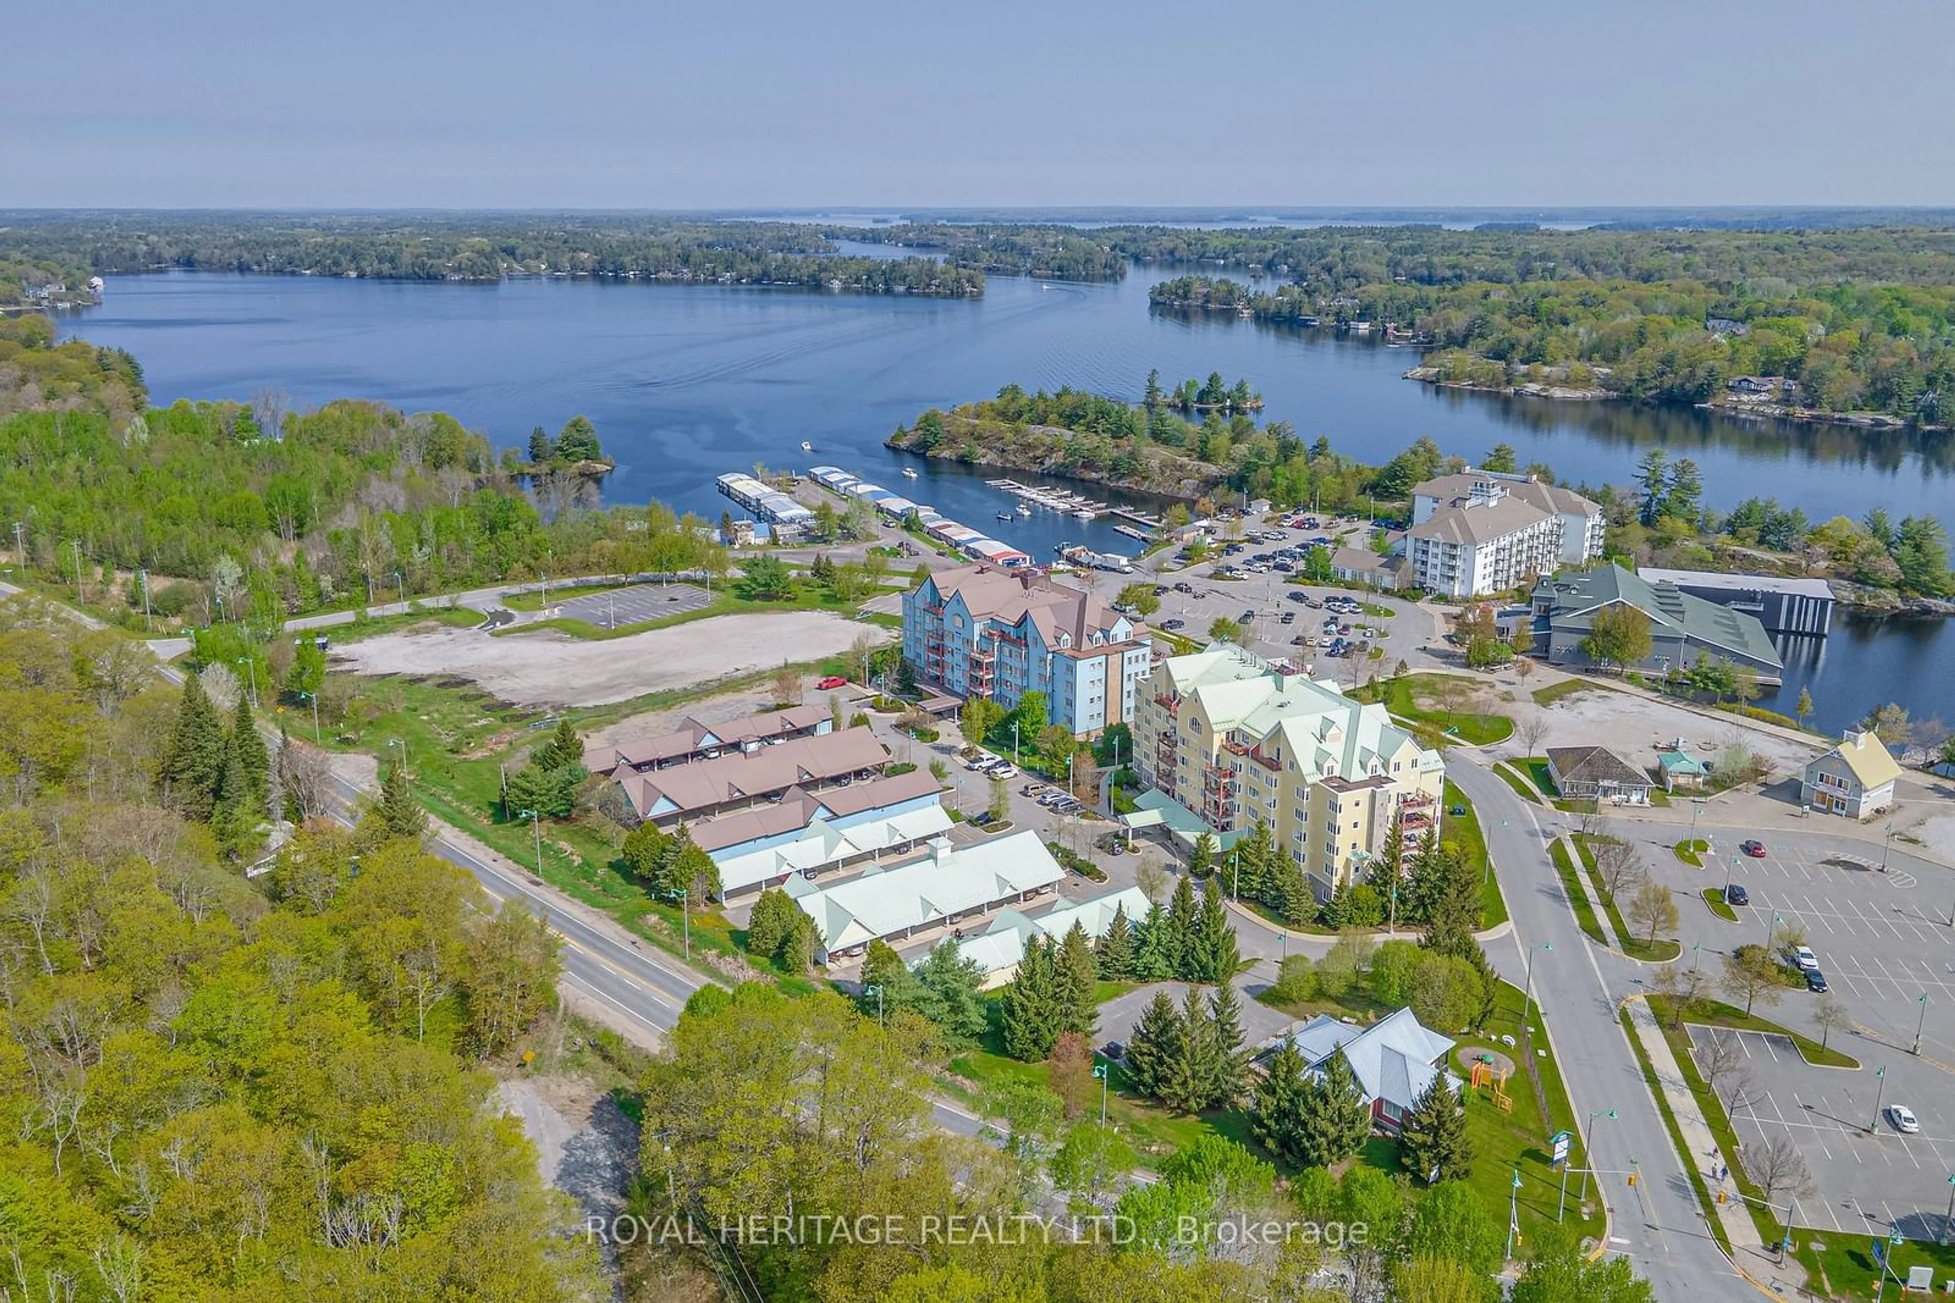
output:
[[[905, 252], [862, 246], [870, 250]], [[1105, 520], [997, 522], [1011, 500], [985, 479], [999, 471], [923, 463], [882, 440], [931, 404], [1013, 381], [1138, 397], [1150, 367], [1169, 383], [1222, 371], [1263, 393], [1265, 418], [1367, 461], [1423, 434], [1460, 457], [1507, 441], [1523, 463], [1542, 461], [1566, 481], [1621, 484], [1646, 447], [1664, 445], [1699, 463], [1713, 506], [1771, 494], [1814, 520], [1873, 506], [1955, 520], [1947, 438], [1435, 391], [1402, 379], [1417, 361], [1408, 350], [1150, 313], [1148, 285], [1169, 273], [1136, 270], [1112, 285], [995, 275], [979, 301], [168, 273], [111, 277], [104, 305], [65, 318], [63, 330], [133, 352], [156, 402], [260, 389], [301, 408], [368, 397], [454, 412], [499, 445], [583, 412], [618, 459], [612, 502], [657, 496], [717, 516], [725, 502], [714, 477], [723, 471], [835, 463], [1040, 557], [1067, 539], [1134, 545]], [[800, 451], [802, 440], [813, 455]], [[917, 481], [901, 479], [905, 465]], [[1955, 719], [1955, 635], [1943, 621], [1846, 621], [1816, 664], [1789, 674], [1787, 703], [1806, 680], [1824, 727], [1887, 699]]]

